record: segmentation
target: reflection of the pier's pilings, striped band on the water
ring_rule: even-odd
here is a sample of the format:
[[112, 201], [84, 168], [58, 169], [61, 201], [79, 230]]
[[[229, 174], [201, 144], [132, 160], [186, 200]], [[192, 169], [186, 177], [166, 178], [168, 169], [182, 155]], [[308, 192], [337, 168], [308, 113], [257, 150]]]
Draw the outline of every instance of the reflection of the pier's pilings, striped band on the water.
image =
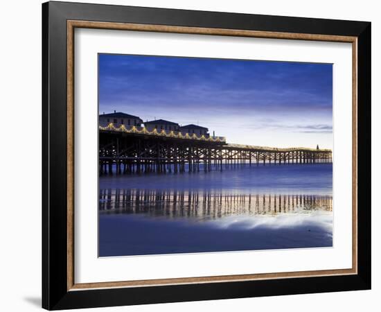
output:
[[255, 194], [233, 195], [200, 191], [101, 189], [103, 214], [145, 214], [168, 218], [214, 219], [233, 215], [276, 215], [332, 211], [332, 196]]

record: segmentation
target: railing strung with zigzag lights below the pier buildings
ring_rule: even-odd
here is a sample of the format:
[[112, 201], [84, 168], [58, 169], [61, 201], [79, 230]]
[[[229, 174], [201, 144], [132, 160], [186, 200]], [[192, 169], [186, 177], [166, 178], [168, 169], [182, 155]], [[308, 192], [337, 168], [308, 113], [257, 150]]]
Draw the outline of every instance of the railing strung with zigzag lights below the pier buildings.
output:
[[120, 125], [116, 127], [114, 123], [109, 123], [106, 126], [99, 125], [99, 130], [105, 131], [116, 131], [116, 132], [126, 132], [138, 135], [154, 135], [158, 137], [171, 137], [175, 139], [188, 139], [188, 140], [197, 140], [197, 141], [209, 141], [209, 142], [222, 142], [225, 143], [226, 139], [224, 137], [212, 137], [210, 135], [196, 135], [195, 133], [186, 133], [173, 130], [158, 130], [154, 129], [149, 131], [147, 128], [138, 127], [136, 125]]

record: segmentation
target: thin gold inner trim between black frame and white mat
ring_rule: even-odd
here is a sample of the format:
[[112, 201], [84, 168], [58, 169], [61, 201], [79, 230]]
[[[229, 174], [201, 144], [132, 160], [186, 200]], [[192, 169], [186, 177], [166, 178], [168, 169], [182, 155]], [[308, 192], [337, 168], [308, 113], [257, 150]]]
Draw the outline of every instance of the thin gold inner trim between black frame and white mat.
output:
[[[311, 270], [299, 272], [275, 272], [247, 275], [220, 275], [209, 277], [183, 277], [171, 279], [146, 279], [139, 281], [103, 281], [75, 284], [74, 281], [74, 29], [98, 28], [125, 31], [150, 31], [161, 33], [185, 33], [198, 35], [224, 35], [236, 37], [262, 37], [287, 40], [313, 40], [347, 42], [352, 44], [352, 268], [338, 270]], [[245, 31], [222, 28], [197, 28], [151, 24], [125, 24], [101, 21], [67, 21], [67, 291], [91, 288], [116, 288], [136, 286], [160, 286], [174, 284], [200, 284], [221, 281], [247, 281], [258, 279], [284, 279], [291, 277], [318, 277], [328, 275], [357, 274], [357, 37], [339, 35], [315, 35], [307, 33], [276, 33], [269, 31]]]

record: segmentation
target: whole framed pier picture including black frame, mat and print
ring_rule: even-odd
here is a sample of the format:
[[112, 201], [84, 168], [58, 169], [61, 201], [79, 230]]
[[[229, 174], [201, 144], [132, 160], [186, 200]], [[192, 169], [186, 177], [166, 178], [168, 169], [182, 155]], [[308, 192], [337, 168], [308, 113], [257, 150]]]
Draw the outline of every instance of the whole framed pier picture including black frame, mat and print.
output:
[[371, 23], [42, 17], [45, 309], [371, 288]]

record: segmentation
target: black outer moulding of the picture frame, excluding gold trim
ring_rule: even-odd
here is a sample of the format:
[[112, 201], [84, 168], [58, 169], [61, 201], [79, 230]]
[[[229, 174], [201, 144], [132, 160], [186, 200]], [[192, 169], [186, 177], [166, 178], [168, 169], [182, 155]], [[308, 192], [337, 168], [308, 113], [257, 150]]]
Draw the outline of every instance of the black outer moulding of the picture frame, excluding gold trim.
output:
[[[67, 20], [355, 36], [357, 275], [67, 291]], [[42, 307], [74, 309], [371, 288], [371, 23], [87, 3], [42, 4]]]

